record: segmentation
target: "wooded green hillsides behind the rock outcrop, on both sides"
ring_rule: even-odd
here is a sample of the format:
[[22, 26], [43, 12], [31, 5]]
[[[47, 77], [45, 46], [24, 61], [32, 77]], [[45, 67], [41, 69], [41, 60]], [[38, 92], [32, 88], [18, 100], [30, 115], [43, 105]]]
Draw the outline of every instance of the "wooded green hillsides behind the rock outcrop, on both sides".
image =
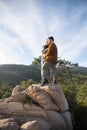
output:
[[[69, 103], [74, 130], [87, 130], [87, 67], [60, 66], [56, 73], [58, 85]], [[27, 88], [40, 80], [40, 64], [0, 65], [0, 99], [11, 96], [12, 88], [9, 86], [15, 87], [21, 82]]]

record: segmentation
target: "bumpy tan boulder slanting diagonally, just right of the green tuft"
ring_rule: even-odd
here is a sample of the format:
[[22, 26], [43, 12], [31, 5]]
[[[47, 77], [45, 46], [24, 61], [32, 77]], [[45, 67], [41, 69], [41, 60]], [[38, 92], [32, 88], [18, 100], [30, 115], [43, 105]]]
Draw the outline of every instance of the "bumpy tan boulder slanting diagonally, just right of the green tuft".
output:
[[27, 94], [35, 102], [38, 102], [44, 110], [59, 110], [57, 105], [53, 103], [49, 94], [46, 91], [40, 89], [38, 86], [32, 85], [29, 87], [27, 89]]

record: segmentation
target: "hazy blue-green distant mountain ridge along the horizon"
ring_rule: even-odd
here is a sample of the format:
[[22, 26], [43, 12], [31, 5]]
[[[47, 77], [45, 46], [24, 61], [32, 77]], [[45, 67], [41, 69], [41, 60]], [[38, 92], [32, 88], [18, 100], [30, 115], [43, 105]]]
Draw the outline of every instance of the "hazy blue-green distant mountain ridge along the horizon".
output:
[[[84, 74], [87, 75], [87, 67], [72, 67], [73, 74]], [[62, 71], [57, 69], [57, 71]], [[38, 65], [0, 65], [0, 84], [8, 83], [9, 85], [15, 86], [21, 81], [33, 79], [40, 81], [40, 68]]]

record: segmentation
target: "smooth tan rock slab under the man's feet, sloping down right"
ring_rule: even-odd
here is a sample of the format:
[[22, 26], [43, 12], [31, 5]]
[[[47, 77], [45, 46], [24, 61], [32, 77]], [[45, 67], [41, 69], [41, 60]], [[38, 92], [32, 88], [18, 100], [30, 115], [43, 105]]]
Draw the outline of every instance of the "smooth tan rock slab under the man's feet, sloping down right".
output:
[[68, 102], [59, 86], [48, 84], [42, 87], [42, 89], [50, 95], [61, 112], [69, 110]]

